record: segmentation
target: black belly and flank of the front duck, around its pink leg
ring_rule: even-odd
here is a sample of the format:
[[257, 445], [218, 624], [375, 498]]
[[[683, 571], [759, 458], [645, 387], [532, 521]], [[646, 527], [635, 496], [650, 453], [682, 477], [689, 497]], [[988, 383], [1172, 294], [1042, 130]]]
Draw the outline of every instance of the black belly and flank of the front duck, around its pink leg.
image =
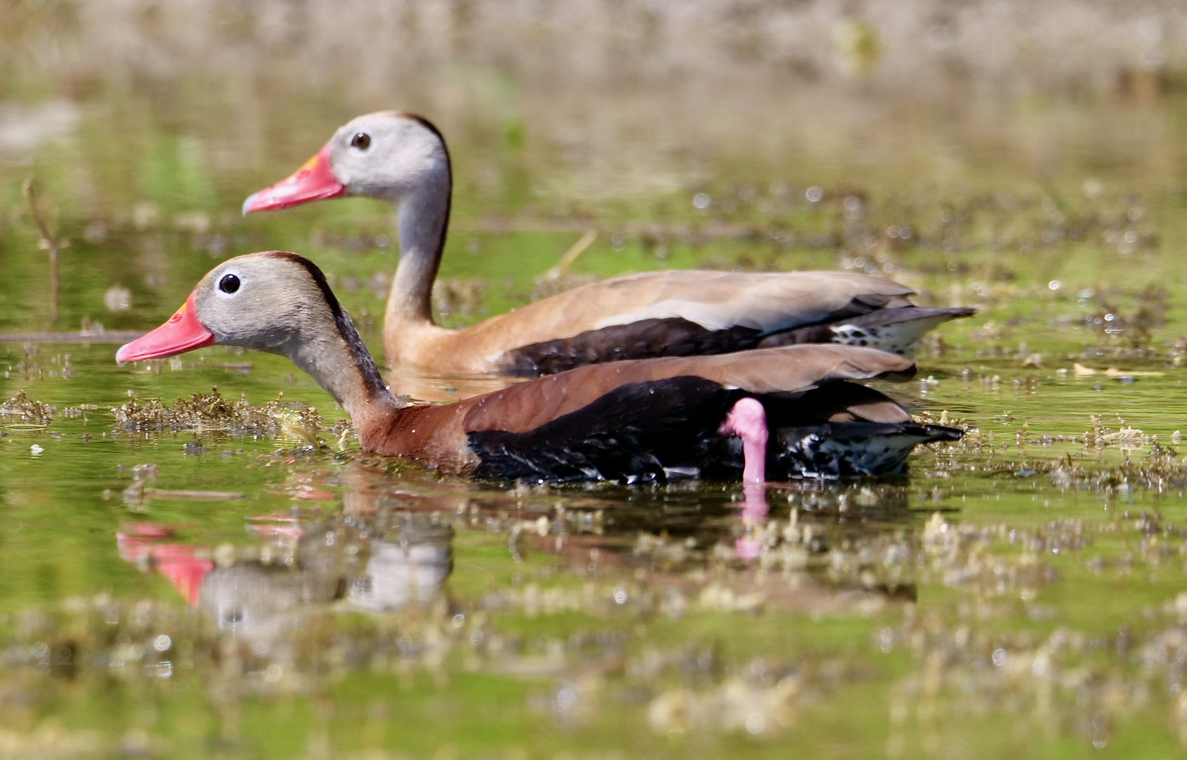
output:
[[[848, 389], [848, 390], [846, 390]], [[758, 396], [772, 435], [768, 480], [902, 472], [919, 443], [961, 432], [915, 422], [827, 422], [837, 396], [877, 394], [831, 383], [804, 394]], [[617, 388], [594, 403], [525, 433], [469, 433], [480, 478], [534, 481], [659, 480], [674, 473], [736, 478], [742, 448], [717, 428], [743, 394], [700, 377]]]

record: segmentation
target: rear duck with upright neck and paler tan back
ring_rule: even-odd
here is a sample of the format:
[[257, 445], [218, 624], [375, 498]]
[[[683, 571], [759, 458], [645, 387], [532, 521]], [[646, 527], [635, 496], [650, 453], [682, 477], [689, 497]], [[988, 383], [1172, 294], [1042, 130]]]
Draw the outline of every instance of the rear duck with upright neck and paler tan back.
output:
[[585, 285], [465, 330], [433, 322], [430, 295], [452, 178], [425, 119], [401, 111], [339, 128], [292, 177], [243, 202], [243, 213], [367, 196], [396, 209], [400, 264], [383, 315], [392, 364], [437, 372], [548, 375], [608, 360], [700, 356], [801, 343], [907, 352], [971, 308], [914, 306], [910, 288], [842, 272], [646, 272]]

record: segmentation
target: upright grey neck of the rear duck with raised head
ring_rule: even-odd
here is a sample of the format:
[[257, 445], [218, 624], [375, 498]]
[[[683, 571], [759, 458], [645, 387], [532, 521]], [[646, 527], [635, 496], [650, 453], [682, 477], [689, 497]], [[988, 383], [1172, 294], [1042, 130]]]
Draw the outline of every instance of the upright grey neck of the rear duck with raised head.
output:
[[431, 296], [445, 245], [451, 191], [446, 159], [396, 204], [400, 264], [387, 296], [386, 325], [433, 322]]

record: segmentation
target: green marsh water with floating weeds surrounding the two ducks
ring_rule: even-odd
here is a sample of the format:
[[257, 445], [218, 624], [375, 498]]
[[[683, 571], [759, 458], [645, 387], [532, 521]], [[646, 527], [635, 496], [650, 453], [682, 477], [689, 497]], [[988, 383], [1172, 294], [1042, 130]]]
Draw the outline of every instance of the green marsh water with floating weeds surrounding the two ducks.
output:
[[[696, 5], [0, 4], [0, 756], [1185, 751], [1176, 11]], [[265, 249], [381, 357], [391, 210], [239, 207], [386, 108], [451, 148], [443, 324], [646, 269], [882, 274], [979, 307], [888, 387], [965, 439], [748, 517], [736, 483], [366, 455], [268, 355], [115, 364], [103, 332]]]

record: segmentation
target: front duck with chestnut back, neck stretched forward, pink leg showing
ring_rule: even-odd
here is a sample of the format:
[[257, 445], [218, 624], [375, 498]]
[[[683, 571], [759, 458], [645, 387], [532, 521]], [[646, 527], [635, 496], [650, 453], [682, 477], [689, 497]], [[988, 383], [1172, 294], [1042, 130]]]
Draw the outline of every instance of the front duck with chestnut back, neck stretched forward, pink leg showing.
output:
[[747, 483], [761, 483], [768, 466], [781, 478], [897, 472], [916, 443], [960, 436], [850, 382], [910, 373], [910, 359], [818, 344], [595, 364], [452, 404], [401, 404], [322, 270], [283, 251], [215, 267], [169, 321], [115, 357], [212, 344], [287, 356], [343, 405], [364, 451], [481, 478], [633, 481], [743, 466]]

